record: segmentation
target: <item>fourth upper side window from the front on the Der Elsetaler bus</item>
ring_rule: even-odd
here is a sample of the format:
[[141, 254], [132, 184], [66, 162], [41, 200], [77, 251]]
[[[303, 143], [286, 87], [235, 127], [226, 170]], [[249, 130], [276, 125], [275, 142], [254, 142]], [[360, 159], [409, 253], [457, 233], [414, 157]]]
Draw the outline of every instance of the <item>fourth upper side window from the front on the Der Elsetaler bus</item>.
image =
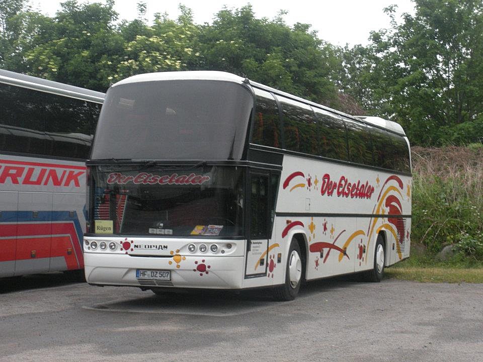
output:
[[371, 134], [368, 126], [344, 118], [347, 127], [347, 139], [349, 143], [349, 160], [351, 162], [374, 166], [372, 158]]

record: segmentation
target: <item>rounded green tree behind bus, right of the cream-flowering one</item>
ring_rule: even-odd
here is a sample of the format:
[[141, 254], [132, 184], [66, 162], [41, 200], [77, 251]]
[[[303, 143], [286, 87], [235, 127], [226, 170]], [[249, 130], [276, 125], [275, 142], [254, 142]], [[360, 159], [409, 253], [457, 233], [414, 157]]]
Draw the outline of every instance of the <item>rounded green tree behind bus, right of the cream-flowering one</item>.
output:
[[336, 105], [332, 68], [338, 63], [330, 44], [319, 40], [310, 25], [289, 27], [281, 12], [257, 19], [250, 5], [216, 15], [199, 36], [200, 69], [224, 70], [309, 98]]

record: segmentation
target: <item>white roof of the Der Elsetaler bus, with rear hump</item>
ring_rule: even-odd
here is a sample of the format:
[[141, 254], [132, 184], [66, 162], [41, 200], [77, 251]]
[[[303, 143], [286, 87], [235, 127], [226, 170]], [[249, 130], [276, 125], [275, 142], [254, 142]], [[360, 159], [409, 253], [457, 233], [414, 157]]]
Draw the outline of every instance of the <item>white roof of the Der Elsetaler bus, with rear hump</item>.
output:
[[308, 101], [306, 99], [291, 95], [289, 93], [285, 93], [279, 91], [278, 89], [272, 88], [270, 86], [254, 82], [249, 80], [248, 78], [243, 78], [238, 75], [223, 72], [223, 71], [214, 71], [214, 70], [190, 70], [190, 71], [170, 71], [170, 72], [157, 72], [157, 73], [145, 73], [145, 74], [138, 74], [133, 75], [123, 80], [118, 81], [111, 85], [112, 87], [117, 85], [123, 84], [130, 84], [130, 83], [138, 83], [138, 82], [149, 82], [149, 81], [163, 81], [163, 80], [221, 80], [221, 81], [229, 81], [238, 84], [248, 83], [254, 87], [264, 89], [268, 92], [272, 92], [276, 95], [283, 96], [286, 98], [293, 99], [295, 101], [299, 101], [320, 109], [324, 109], [329, 112], [333, 112], [340, 116], [356, 119], [358, 121], [365, 122], [370, 124], [371, 126], [376, 126], [378, 128], [383, 128], [387, 131], [397, 133], [401, 136], [406, 136], [403, 127], [401, 127], [398, 123], [388, 121], [379, 117], [368, 117], [368, 116], [352, 116], [347, 113], [332, 109], [327, 106], [323, 106], [317, 104], [315, 102]]

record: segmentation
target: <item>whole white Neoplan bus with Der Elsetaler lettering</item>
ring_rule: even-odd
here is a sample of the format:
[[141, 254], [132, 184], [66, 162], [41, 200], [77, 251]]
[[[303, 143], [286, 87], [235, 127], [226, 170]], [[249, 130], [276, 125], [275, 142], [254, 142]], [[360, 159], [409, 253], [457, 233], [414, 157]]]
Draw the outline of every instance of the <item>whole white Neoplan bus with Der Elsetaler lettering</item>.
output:
[[110, 87], [89, 167], [86, 279], [156, 294], [271, 287], [407, 258], [411, 157], [396, 123], [233, 74]]

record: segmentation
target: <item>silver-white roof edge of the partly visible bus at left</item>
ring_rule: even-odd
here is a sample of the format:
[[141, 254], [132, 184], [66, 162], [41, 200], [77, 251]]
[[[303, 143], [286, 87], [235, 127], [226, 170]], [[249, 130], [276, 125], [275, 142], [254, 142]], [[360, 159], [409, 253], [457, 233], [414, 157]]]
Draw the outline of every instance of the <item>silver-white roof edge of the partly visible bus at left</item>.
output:
[[101, 92], [91, 91], [90, 89], [63, 84], [53, 80], [37, 78], [4, 69], [0, 69], [0, 83], [101, 104], [104, 102], [105, 98], [105, 94]]

